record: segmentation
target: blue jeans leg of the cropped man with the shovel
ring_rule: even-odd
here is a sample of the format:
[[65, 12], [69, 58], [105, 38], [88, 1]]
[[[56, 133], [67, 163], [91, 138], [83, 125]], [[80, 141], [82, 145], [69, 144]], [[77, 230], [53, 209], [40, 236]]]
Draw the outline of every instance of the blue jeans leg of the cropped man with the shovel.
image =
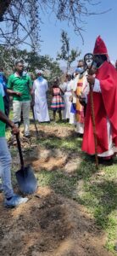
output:
[[6, 198], [12, 197], [14, 191], [11, 184], [11, 155], [5, 137], [0, 137], [0, 176], [2, 178], [3, 192]]

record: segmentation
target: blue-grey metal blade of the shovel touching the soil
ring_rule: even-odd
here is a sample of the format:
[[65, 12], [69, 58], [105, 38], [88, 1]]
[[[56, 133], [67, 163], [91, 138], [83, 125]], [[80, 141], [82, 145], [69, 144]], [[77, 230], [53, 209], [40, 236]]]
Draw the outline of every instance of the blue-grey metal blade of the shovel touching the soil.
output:
[[36, 192], [37, 181], [31, 166], [25, 166], [25, 169], [16, 172], [16, 179], [20, 192], [23, 194], [28, 195]]

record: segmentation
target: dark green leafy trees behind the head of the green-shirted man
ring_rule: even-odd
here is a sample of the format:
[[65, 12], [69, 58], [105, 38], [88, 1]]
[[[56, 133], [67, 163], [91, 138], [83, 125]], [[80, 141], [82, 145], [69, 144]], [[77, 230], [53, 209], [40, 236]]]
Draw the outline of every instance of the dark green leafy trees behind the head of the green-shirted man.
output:
[[15, 62], [20, 60], [24, 61], [25, 68], [29, 72], [35, 73], [36, 68], [44, 70], [48, 80], [53, 80], [54, 77], [59, 77], [62, 73], [58, 62], [53, 61], [49, 55], [42, 56], [34, 51], [9, 49], [4, 46], [0, 46], [0, 55], [0, 66], [8, 73], [11, 73]]

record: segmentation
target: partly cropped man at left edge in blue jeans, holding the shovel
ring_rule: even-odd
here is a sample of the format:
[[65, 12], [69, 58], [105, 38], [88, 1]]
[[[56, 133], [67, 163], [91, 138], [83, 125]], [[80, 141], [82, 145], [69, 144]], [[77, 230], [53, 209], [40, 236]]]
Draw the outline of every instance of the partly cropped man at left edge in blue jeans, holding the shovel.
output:
[[0, 175], [2, 178], [3, 193], [5, 196], [5, 207], [17, 207], [21, 203], [28, 201], [28, 198], [22, 198], [15, 195], [11, 184], [11, 155], [8, 151], [8, 145], [5, 138], [5, 124], [11, 127], [14, 135], [19, 134], [19, 129], [4, 114], [3, 96], [0, 90]]

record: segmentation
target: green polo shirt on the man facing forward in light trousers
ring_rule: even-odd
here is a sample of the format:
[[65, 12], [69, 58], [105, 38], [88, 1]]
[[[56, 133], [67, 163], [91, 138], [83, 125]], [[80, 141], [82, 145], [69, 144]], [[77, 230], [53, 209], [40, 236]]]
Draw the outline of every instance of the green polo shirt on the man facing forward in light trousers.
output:
[[13, 96], [14, 101], [26, 102], [31, 100], [30, 89], [32, 87], [31, 78], [27, 75], [21, 77], [14, 73], [8, 78], [8, 89], [22, 93], [22, 96]]

